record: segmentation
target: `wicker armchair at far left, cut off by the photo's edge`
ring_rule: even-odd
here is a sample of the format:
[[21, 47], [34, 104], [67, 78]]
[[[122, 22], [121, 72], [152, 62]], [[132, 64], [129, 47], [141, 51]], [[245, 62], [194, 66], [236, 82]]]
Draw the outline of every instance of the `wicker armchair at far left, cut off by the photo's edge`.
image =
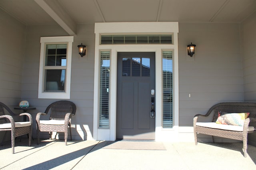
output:
[[[6, 115], [5, 110], [10, 115]], [[3, 141], [6, 138], [6, 132], [11, 131], [11, 143], [13, 154], [15, 146], [15, 137], [28, 134], [28, 146], [31, 146], [32, 139], [32, 116], [29, 113], [21, 113], [19, 114], [19, 116], [28, 116], [29, 121], [14, 122], [14, 118], [12, 117], [14, 115], [16, 114], [13, 113], [8, 106], [0, 102], [0, 131], [5, 131]]]

